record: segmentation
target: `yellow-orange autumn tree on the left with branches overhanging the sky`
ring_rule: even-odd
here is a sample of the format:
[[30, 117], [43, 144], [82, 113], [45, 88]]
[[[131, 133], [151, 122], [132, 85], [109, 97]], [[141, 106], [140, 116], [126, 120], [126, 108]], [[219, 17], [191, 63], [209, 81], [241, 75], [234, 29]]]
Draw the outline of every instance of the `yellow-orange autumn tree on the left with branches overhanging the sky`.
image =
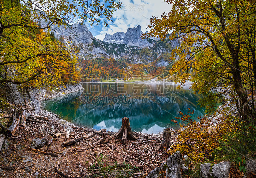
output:
[[[58, 84], [77, 81], [75, 49], [55, 41], [47, 31], [53, 24], [74, 23], [77, 17], [91, 25], [108, 25], [121, 3], [108, 0], [5, 0], [0, 2], [0, 84]], [[46, 25], [37, 24], [43, 19]]]

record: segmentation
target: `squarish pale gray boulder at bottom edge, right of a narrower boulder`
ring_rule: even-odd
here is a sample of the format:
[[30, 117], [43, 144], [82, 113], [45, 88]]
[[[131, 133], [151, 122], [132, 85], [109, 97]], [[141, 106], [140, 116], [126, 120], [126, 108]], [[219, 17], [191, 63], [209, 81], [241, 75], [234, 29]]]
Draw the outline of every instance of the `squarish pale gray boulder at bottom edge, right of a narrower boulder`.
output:
[[229, 169], [231, 165], [230, 162], [224, 161], [219, 164], [214, 164], [212, 166], [212, 174], [214, 178], [228, 178], [229, 177]]

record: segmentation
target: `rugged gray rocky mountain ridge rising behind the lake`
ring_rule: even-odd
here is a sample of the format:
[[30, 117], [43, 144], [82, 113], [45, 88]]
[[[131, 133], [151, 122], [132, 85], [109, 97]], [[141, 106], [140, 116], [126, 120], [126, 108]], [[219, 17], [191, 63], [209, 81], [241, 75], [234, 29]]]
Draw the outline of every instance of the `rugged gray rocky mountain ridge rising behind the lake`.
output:
[[[48, 22], [39, 19], [37, 23], [45, 26]], [[62, 26], [53, 24], [50, 32], [54, 33], [55, 39], [71, 42], [76, 46], [79, 49], [77, 56], [80, 60], [107, 57], [125, 60], [132, 64], [149, 64], [155, 61], [156, 66], [166, 66], [170, 63], [169, 56], [172, 49], [179, 46], [178, 39], [166, 38], [164, 41], [157, 38], [141, 39], [143, 32], [140, 25], [128, 28], [126, 33], [106, 34], [103, 41], [96, 39], [82, 23]]]

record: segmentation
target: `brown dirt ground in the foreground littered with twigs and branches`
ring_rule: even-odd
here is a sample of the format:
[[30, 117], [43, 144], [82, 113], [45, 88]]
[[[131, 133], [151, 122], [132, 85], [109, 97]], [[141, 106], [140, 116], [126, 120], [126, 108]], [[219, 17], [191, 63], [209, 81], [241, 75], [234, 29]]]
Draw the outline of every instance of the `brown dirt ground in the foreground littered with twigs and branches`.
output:
[[[6, 115], [8, 113], [5, 113]], [[106, 140], [109, 139], [110, 146], [100, 144], [102, 133], [70, 146], [61, 146], [63, 142], [92, 132], [64, 122], [57, 116], [50, 118], [44, 121], [30, 117], [24, 130], [17, 131], [9, 138], [5, 134], [0, 135], [7, 141], [7, 144], [4, 142], [0, 153], [0, 177], [146, 177], [168, 158], [165, 151], [156, 151], [162, 141], [162, 134], [147, 135], [136, 132], [137, 140], [123, 143], [121, 139], [109, 139], [113, 133], [106, 132]], [[2, 114], [1, 120], [3, 119]], [[55, 152], [58, 157], [44, 155], [28, 148], [31, 147], [33, 139], [45, 137], [47, 128], [47, 138], [52, 140], [51, 146], [45, 144], [38, 150]], [[66, 139], [68, 130], [71, 131], [70, 137]], [[54, 137], [58, 133], [62, 135]], [[175, 138], [172, 142], [175, 142]], [[53, 167], [65, 175], [61, 176], [55, 169], [44, 173]]]

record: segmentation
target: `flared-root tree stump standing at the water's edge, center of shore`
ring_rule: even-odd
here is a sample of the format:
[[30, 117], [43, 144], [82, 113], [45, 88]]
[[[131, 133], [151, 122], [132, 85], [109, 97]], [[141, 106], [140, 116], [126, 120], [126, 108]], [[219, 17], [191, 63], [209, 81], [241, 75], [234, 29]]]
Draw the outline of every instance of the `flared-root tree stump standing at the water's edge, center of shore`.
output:
[[125, 143], [127, 140], [137, 140], [138, 138], [131, 130], [130, 121], [128, 117], [122, 118], [122, 126], [118, 132], [112, 135], [110, 138], [116, 137], [117, 139], [122, 138]]

